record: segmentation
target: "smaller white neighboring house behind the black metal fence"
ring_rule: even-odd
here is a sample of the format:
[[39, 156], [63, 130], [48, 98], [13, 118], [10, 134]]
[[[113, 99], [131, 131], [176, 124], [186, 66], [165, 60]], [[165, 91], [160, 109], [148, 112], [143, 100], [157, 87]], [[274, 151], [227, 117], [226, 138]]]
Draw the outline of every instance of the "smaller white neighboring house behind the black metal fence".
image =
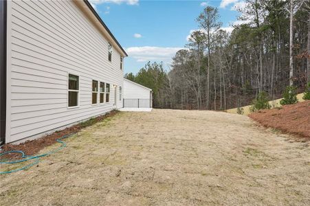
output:
[[124, 108], [152, 108], [152, 89], [124, 79]]

